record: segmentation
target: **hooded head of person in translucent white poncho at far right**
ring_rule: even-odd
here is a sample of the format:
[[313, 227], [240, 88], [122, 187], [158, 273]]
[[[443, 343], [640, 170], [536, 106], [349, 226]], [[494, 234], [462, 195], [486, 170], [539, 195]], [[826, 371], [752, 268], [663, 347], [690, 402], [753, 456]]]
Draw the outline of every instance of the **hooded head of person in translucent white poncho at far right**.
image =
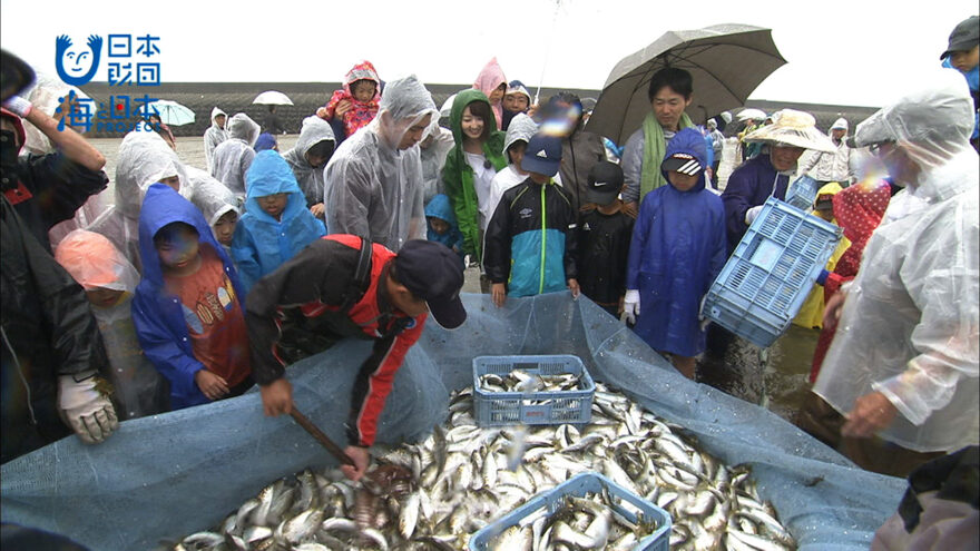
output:
[[[929, 87], [879, 109], [855, 132], [857, 146], [872, 146], [900, 186], [918, 187], [920, 175], [934, 173], [971, 149], [974, 108], [962, 75], [934, 69], [919, 81]], [[972, 163], [976, 170], [976, 155]]]

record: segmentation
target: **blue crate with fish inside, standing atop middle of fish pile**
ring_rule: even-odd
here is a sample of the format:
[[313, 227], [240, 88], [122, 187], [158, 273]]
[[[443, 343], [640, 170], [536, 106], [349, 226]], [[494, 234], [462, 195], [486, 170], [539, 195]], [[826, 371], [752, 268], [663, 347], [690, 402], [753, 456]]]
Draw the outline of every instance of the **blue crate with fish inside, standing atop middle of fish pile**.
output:
[[473, 409], [480, 426], [588, 423], [595, 393], [578, 356], [473, 358]]

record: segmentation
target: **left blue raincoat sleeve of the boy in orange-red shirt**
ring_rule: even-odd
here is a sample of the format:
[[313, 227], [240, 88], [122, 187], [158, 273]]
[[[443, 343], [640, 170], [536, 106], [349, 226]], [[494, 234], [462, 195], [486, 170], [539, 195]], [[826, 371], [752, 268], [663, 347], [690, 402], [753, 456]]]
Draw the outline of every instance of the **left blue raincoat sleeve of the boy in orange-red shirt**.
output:
[[133, 325], [146, 357], [170, 382], [170, 394], [184, 396], [189, 402], [185, 405], [207, 402], [194, 381], [204, 365], [175, 341], [165, 325], [164, 313], [157, 307], [157, 297], [141, 287], [137, 287], [133, 297]]

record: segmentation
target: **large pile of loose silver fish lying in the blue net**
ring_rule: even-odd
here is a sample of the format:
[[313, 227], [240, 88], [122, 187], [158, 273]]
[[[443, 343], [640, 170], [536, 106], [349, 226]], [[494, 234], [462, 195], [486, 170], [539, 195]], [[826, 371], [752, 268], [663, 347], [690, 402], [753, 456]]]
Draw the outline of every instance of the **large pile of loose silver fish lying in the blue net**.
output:
[[[582, 427], [480, 427], [472, 388], [467, 388], [452, 396], [447, 423], [423, 442], [379, 446], [379, 466], [362, 483], [343, 479], [336, 469], [305, 470], [266, 486], [212, 531], [169, 549], [461, 550], [494, 519], [586, 471], [600, 472], [669, 512], [673, 550], [795, 549], [773, 506], [756, 493], [749, 470], [728, 468], [687, 440], [682, 427], [599, 383], [591, 422]], [[592, 520], [606, 514], [601, 505], [575, 506], [588, 508], [582, 514]], [[508, 547], [493, 549], [629, 549], [645, 535], [610, 534], [598, 545], [595, 535], [602, 524], [592, 524], [565, 522], [561, 541], [552, 529], [550, 547], [521, 539], [519, 545], [507, 540]]]

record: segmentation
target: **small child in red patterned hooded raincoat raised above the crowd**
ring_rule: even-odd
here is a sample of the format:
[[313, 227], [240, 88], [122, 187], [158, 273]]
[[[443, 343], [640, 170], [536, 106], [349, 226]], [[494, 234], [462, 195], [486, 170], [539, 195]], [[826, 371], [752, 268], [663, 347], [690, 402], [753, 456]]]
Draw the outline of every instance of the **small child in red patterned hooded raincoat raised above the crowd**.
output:
[[367, 126], [378, 115], [381, 102], [381, 79], [371, 61], [361, 61], [347, 71], [344, 88], [334, 90], [330, 101], [316, 110], [322, 119], [339, 118], [344, 124], [344, 134], [351, 136]]

